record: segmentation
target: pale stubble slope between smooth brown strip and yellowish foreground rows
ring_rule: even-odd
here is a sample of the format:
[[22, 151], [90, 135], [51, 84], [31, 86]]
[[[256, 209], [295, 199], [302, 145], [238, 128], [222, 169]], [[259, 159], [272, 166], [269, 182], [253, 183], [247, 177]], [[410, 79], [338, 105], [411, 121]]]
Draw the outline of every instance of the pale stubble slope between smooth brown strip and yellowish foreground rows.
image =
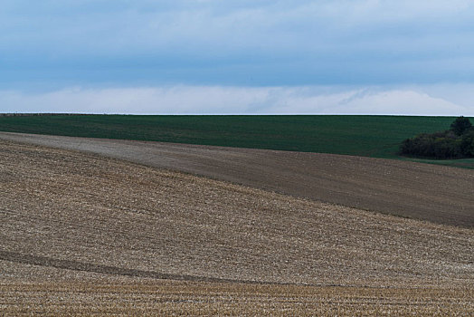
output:
[[244, 282], [472, 282], [470, 229], [63, 150], [1, 148], [7, 261]]

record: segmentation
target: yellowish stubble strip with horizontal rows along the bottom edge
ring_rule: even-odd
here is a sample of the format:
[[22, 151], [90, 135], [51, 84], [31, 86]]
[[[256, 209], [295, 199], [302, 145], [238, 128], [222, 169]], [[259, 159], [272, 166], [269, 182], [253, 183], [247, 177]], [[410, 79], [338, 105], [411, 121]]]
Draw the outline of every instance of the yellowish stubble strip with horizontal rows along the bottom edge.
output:
[[[472, 292], [129, 281], [0, 283], [5, 314], [160, 316], [465, 316]], [[29, 314], [31, 315], [31, 313]]]

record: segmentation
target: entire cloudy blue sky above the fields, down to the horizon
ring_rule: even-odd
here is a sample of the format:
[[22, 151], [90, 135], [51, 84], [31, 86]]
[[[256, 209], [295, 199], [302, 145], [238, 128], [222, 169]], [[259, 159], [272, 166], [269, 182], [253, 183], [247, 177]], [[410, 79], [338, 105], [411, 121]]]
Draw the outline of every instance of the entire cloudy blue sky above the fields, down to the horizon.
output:
[[0, 112], [474, 116], [474, 1], [2, 0]]

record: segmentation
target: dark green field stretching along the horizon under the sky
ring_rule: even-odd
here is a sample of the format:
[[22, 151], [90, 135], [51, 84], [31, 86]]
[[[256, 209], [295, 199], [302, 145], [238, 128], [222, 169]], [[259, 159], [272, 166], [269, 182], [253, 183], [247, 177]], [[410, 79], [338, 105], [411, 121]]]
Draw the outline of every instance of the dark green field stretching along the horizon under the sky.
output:
[[[397, 155], [403, 139], [421, 132], [447, 130], [454, 119], [454, 117], [308, 115], [56, 115], [0, 117], [0, 130], [405, 159]], [[474, 168], [474, 159], [411, 160]]]

